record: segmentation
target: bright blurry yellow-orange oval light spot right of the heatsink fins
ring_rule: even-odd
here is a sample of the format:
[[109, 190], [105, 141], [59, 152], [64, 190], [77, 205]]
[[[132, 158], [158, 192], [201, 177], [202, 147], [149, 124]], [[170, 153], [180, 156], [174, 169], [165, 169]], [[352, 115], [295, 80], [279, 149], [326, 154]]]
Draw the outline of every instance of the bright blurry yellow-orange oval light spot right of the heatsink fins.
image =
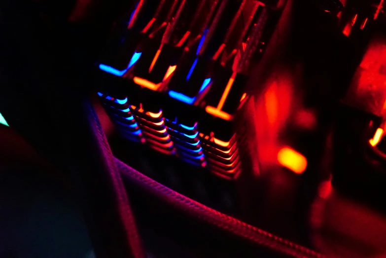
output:
[[281, 166], [292, 170], [296, 174], [302, 174], [307, 167], [307, 159], [290, 147], [283, 147], [278, 153], [278, 161]]

